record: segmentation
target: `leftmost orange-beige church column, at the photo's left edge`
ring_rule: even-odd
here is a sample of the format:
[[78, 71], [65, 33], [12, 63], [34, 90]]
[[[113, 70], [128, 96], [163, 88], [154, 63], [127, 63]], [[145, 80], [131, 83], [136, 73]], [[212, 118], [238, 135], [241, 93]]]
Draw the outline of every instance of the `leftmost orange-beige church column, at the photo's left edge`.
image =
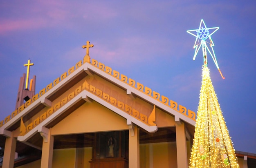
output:
[[3, 168], [13, 168], [17, 139], [11, 135], [5, 140]]

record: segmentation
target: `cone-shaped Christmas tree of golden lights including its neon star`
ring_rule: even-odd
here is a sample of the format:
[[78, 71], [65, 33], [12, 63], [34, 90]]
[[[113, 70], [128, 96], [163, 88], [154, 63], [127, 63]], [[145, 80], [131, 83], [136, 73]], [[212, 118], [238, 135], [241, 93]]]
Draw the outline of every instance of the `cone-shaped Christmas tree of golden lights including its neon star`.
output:
[[[203, 23], [203, 25], [202, 25]], [[219, 28], [207, 28], [201, 20], [197, 30], [187, 31], [194, 35], [195, 31], [195, 56], [202, 46], [204, 66], [202, 73], [202, 86], [200, 90], [200, 100], [195, 124], [195, 135], [193, 140], [190, 168], [239, 168], [238, 160], [229, 137], [229, 132], [225, 124], [220, 104], [214, 91], [209, 69], [207, 67], [207, 51], [215, 62], [220, 75], [224, 79], [213, 51], [213, 41], [210, 33], [211, 29], [217, 31]], [[209, 39], [209, 42], [206, 40]], [[201, 40], [201, 41], [200, 41]], [[209, 44], [209, 46], [207, 46]], [[211, 51], [209, 50], [211, 48]], [[212, 53], [211, 53], [212, 52]]]

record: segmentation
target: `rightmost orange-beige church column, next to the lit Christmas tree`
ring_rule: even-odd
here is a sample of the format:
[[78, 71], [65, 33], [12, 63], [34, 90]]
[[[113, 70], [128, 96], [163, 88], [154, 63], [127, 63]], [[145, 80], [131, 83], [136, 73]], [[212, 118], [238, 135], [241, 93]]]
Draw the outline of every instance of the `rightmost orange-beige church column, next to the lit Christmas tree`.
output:
[[187, 149], [185, 125], [183, 122], [176, 122], [176, 146], [177, 146], [177, 168], [187, 168]]

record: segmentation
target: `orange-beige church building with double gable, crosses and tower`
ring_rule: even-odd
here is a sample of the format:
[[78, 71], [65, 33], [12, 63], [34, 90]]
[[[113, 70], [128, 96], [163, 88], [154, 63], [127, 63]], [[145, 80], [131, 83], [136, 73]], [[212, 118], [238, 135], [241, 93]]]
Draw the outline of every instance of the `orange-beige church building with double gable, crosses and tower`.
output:
[[25, 64], [16, 110], [0, 121], [0, 168], [188, 168], [196, 113], [92, 59], [92, 46], [39, 93]]

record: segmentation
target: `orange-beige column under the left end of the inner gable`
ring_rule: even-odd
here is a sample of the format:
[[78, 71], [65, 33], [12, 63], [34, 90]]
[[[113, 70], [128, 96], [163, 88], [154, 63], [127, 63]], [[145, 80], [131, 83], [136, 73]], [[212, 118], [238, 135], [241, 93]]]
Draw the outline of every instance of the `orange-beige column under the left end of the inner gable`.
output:
[[44, 135], [47, 138], [43, 139], [41, 168], [52, 168], [54, 136], [51, 135], [51, 130], [50, 128], [48, 134]]

